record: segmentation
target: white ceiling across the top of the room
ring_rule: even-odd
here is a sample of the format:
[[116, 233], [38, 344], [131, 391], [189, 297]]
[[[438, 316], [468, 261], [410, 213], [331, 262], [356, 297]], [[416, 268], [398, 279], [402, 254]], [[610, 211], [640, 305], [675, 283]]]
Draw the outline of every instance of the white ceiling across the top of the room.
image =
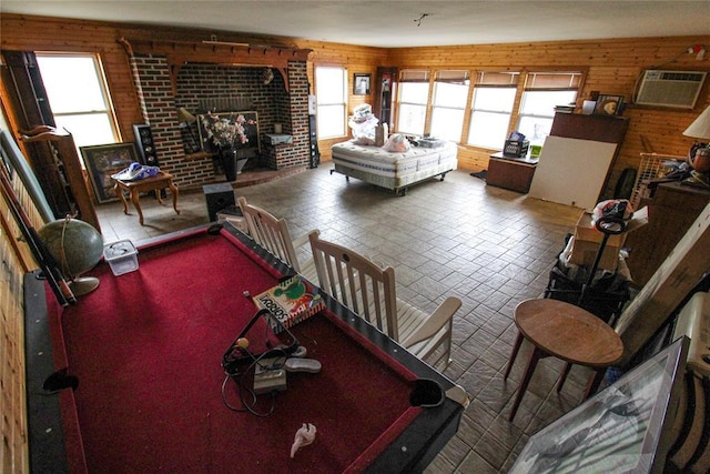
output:
[[389, 48], [710, 34], [707, 0], [1, 0], [4, 12]]

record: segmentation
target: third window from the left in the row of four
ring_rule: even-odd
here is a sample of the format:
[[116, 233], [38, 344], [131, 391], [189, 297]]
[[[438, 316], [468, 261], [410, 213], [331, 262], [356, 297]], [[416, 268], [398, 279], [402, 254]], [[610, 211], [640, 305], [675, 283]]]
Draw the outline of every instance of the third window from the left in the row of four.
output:
[[501, 149], [508, 138], [519, 72], [478, 72], [467, 143]]

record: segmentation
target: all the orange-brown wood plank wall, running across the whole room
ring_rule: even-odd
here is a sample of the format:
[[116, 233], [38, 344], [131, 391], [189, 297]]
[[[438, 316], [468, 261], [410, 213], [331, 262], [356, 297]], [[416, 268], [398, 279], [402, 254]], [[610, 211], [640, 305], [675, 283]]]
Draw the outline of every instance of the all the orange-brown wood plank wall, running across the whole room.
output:
[[[128, 57], [116, 42], [126, 38], [180, 38], [195, 41], [206, 38], [213, 31], [178, 28], [148, 28], [121, 23], [103, 23], [82, 20], [24, 17], [7, 14], [0, 19], [2, 27], [2, 49], [48, 50], [48, 51], [97, 51], [109, 78], [109, 85], [116, 109], [116, 117], [123, 140], [132, 141], [131, 123], [140, 123], [141, 115], [138, 94], [133, 85]], [[244, 34], [217, 32], [221, 40], [244, 41]], [[403, 68], [467, 69], [476, 70], [535, 70], [588, 68], [580, 101], [591, 91], [632, 95], [638, 75], [646, 69], [710, 70], [710, 54], [698, 61], [687, 53], [693, 44], [710, 46], [710, 36], [704, 37], [659, 37], [633, 39], [605, 39], [587, 41], [551, 41], [535, 43], [468, 44], [436, 48], [382, 49], [342, 43], [328, 43], [283, 37], [261, 38], [301, 49], [312, 49], [308, 61], [308, 78], [314, 91], [315, 65], [342, 65], [347, 68], [349, 80], [354, 73], [369, 73], [373, 77], [373, 93], [353, 95], [349, 89], [348, 109], [361, 103], [374, 102], [375, 73], [378, 65]], [[707, 82], [710, 83], [710, 80]], [[655, 151], [663, 154], [682, 155], [692, 140], [682, 131], [710, 103], [706, 84], [698, 105], [691, 111], [629, 107], [625, 117], [630, 118], [627, 139], [621, 148], [611, 182], [625, 168], [637, 168], [639, 153]], [[643, 148], [642, 138], [652, 150]], [[329, 145], [342, 139], [322, 140], [320, 149], [324, 161], [329, 160]], [[464, 147], [459, 152], [463, 169], [480, 170], [488, 163], [490, 150]]]

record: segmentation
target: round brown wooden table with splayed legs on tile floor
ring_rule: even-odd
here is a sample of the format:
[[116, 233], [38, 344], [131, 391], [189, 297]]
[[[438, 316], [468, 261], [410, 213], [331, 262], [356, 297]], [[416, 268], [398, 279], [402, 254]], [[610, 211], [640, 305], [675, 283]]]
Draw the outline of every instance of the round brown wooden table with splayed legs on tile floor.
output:
[[524, 339], [535, 349], [508, 420], [515, 417], [540, 359], [554, 356], [567, 362], [557, 384], [558, 392], [562, 389], [571, 364], [596, 369], [595, 376], [587, 384], [585, 393], [587, 399], [599, 387], [606, 369], [618, 362], [623, 354], [623, 344], [616, 331], [594, 314], [564, 301], [550, 299], [524, 301], [515, 309], [515, 324], [519, 334], [513, 346], [504, 377], [508, 379]]

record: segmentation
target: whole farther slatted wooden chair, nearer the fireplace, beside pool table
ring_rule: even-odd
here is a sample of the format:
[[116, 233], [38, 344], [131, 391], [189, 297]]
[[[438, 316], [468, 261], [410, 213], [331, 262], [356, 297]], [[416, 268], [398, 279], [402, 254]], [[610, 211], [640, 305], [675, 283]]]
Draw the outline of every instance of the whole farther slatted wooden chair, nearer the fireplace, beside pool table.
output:
[[252, 239], [275, 256], [291, 265], [296, 272], [315, 282], [316, 272], [312, 258], [298, 261], [296, 249], [308, 242], [308, 234], [294, 240], [288, 232], [288, 224], [284, 219], [277, 219], [270, 212], [252, 204], [247, 204], [244, 196], [237, 199], [248, 233]]

